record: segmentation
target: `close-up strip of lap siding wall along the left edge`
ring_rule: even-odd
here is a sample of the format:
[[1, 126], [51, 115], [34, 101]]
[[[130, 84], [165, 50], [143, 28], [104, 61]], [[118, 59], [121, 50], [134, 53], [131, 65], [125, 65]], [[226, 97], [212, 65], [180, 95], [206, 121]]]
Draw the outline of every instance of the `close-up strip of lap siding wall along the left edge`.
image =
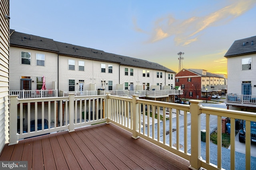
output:
[[9, 141], [9, 0], [0, 1], [0, 151]]

